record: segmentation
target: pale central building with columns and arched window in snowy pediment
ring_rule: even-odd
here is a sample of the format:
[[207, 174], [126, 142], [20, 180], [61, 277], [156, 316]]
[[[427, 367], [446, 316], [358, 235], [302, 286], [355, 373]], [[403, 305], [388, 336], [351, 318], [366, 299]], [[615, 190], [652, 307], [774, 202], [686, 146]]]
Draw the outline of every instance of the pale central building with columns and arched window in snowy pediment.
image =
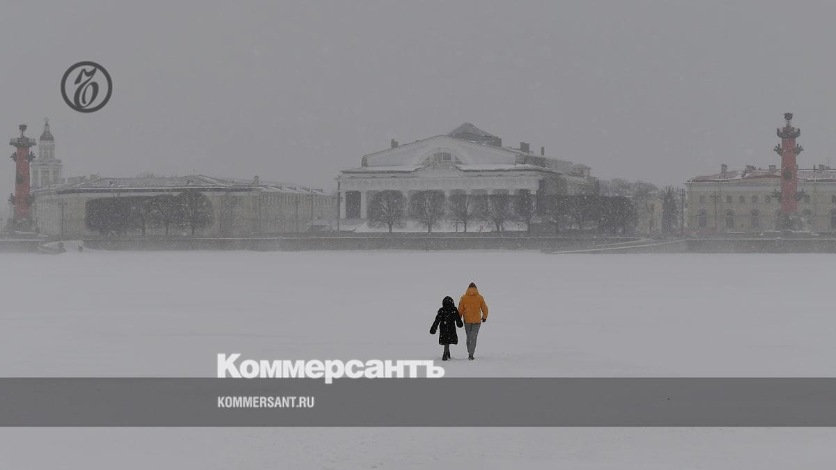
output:
[[375, 194], [394, 190], [406, 198], [438, 191], [489, 195], [506, 193], [578, 194], [596, 192], [589, 166], [534, 153], [528, 143], [502, 146], [502, 139], [465, 123], [436, 135], [363, 156], [360, 166], [339, 172], [341, 219], [362, 220]]

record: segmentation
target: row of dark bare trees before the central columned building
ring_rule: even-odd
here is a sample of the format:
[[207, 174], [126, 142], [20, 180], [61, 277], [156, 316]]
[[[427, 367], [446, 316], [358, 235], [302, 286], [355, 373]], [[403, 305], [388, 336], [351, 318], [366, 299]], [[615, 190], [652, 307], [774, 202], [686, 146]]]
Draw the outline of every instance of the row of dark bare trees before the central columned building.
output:
[[445, 219], [460, 222], [465, 232], [468, 223], [474, 221], [491, 222], [497, 232], [511, 221], [524, 222], [529, 231], [534, 222], [548, 222], [556, 233], [566, 225], [581, 231], [621, 233], [635, 227], [635, 207], [626, 197], [455, 193], [448, 199], [443, 192], [424, 191], [407, 201], [402, 192], [382, 191], [370, 202], [369, 219], [374, 227], [387, 227], [393, 232], [407, 217], [420, 222], [427, 232]]

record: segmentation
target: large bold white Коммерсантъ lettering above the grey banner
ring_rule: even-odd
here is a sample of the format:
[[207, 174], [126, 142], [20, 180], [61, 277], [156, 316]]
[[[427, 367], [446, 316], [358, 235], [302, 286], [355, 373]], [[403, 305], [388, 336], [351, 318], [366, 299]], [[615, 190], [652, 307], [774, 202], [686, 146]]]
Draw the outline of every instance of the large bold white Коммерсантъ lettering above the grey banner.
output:
[[240, 353], [217, 355], [219, 379], [393, 379], [444, 376], [444, 368], [432, 360], [254, 360], [239, 361]]

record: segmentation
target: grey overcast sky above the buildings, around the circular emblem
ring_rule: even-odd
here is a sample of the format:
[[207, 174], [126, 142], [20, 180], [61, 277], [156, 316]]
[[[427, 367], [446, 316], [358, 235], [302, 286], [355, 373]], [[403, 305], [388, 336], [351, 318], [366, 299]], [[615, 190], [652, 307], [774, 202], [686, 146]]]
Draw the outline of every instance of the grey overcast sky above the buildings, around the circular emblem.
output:
[[[333, 188], [391, 138], [467, 121], [599, 177], [665, 185], [776, 163], [792, 111], [800, 164], [836, 166], [830, 2], [211, 4], [4, 4], [0, 135], [27, 123], [38, 136], [48, 116], [64, 176]], [[59, 92], [81, 60], [114, 80], [92, 114]]]

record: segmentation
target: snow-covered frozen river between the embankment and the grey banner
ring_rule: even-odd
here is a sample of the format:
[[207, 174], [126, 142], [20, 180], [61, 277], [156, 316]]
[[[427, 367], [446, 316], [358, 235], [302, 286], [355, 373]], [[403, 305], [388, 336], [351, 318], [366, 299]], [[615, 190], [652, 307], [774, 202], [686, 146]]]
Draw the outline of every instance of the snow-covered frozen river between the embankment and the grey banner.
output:
[[828, 255], [89, 251], [0, 260], [6, 376], [212, 376], [220, 352], [431, 359], [441, 356], [428, 333], [441, 299], [457, 300], [471, 281], [490, 319], [479, 360], [461, 361], [463, 343], [453, 346], [449, 375], [833, 375], [836, 356]]

